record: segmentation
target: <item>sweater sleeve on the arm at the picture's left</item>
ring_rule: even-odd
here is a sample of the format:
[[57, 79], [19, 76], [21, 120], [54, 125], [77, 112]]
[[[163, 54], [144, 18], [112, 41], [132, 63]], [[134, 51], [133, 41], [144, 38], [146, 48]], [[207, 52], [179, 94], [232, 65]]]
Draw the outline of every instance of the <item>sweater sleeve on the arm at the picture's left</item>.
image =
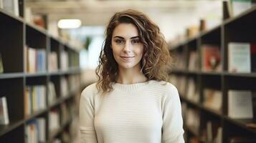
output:
[[94, 127], [94, 106], [93, 101], [85, 89], [80, 98], [80, 143], [98, 143]]

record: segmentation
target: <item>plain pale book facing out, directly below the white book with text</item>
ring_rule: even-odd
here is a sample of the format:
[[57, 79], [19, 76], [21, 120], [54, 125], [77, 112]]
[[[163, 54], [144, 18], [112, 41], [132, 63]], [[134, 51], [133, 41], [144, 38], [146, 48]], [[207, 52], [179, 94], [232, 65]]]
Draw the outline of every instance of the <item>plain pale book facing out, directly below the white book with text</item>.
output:
[[228, 116], [232, 119], [252, 119], [253, 109], [251, 91], [228, 91]]

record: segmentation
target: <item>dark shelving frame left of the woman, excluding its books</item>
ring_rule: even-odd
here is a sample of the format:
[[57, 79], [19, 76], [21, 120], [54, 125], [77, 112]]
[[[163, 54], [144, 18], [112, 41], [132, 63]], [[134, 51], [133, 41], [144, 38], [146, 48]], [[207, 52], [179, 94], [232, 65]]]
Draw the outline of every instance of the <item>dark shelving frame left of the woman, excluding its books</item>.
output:
[[[24, 0], [19, 0], [19, 7], [24, 6]], [[80, 76], [81, 69], [79, 68], [79, 52], [74, 47], [59, 37], [49, 35], [45, 29], [34, 24], [30, 24], [23, 19], [23, 8], [20, 9], [21, 16], [15, 16], [3, 9], [0, 9], [0, 39], [1, 39], [1, 58], [4, 65], [4, 73], [0, 74], [0, 97], [6, 97], [9, 124], [0, 125], [0, 142], [19, 142], [25, 143], [26, 127], [30, 122], [34, 122], [37, 118], [45, 119], [46, 133], [49, 134], [49, 111], [54, 108], [60, 108], [62, 104], [77, 104], [77, 92], [81, 92], [80, 80], [75, 80], [74, 91], [69, 91], [66, 97], [62, 97], [60, 90], [62, 89], [61, 77], [67, 80], [67, 86], [72, 83], [72, 78]], [[36, 70], [36, 72], [27, 72], [28, 53], [27, 47], [34, 50], [43, 49], [45, 51], [45, 60], [41, 64], [45, 64], [45, 69]], [[67, 70], [60, 69], [60, 58], [62, 51], [67, 51], [67, 56], [70, 61], [67, 61]], [[49, 53], [54, 51], [57, 53], [57, 71], [49, 71], [48, 61]], [[56, 90], [57, 99], [54, 104], [48, 102], [48, 84], [52, 82]], [[27, 97], [27, 86], [44, 86], [45, 87], [45, 106], [44, 109], [39, 109], [37, 112], [25, 115], [25, 100]], [[24, 93], [25, 92], [25, 93]], [[75, 93], [74, 93], [75, 92]], [[29, 99], [34, 98], [30, 96]], [[75, 102], [75, 103], [74, 103]], [[34, 105], [34, 104], [33, 104]], [[37, 105], [38, 106], [38, 105]], [[32, 108], [32, 107], [31, 107]], [[69, 112], [72, 106], [67, 107]], [[77, 111], [78, 109], [76, 109]], [[78, 116], [78, 115], [77, 115]], [[62, 119], [62, 117], [60, 117]], [[68, 127], [72, 119], [65, 123], [58, 130], [57, 134], [62, 134], [65, 127]], [[55, 137], [55, 136], [54, 136]], [[54, 139], [51, 138], [52, 140]], [[47, 135], [47, 142], [51, 140]]]

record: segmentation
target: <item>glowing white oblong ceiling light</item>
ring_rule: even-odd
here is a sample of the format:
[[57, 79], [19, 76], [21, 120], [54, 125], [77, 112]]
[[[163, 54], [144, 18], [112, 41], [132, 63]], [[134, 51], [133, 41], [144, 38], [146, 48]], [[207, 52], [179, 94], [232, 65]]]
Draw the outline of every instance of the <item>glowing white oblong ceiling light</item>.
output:
[[60, 29], [76, 29], [81, 26], [80, 19], [60, 19], [58, 21], [58, 27]]

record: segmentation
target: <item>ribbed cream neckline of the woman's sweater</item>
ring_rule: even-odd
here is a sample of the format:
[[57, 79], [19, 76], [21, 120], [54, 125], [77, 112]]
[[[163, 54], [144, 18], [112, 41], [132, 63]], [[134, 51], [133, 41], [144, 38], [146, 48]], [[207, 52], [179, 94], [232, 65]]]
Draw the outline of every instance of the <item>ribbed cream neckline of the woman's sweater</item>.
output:
[[119, 89], [123, 92], [136, 92], [146, 87], [150, 82], [151, 80], [146, 82], [138, 82], [134, 84], [120, 84], [120, 83], [114, 82], [113, 89]]

